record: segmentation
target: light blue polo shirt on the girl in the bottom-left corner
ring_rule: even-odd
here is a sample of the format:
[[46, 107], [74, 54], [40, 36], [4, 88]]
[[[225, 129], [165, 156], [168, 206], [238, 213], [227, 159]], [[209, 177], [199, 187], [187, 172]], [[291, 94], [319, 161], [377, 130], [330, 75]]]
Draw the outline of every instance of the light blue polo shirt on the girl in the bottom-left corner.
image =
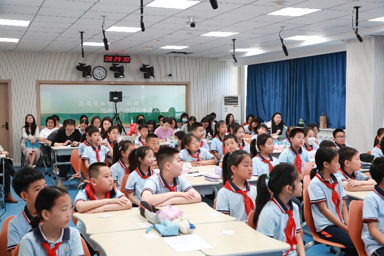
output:
[[84, 255], [80, 233], [77, 229], [73, 227], [66, 227], [61, 230], [60, 237], [56, 241], [49, 241], [41, 231], [42, 225], [43, 223], [21, 239], [18, 255], [48, 255], [47, 250], [42, 245], [43, 242], [48, 242], [51, 249], [55, 247], [55, 244], [62, 242], [55, 251], [57, 256]]

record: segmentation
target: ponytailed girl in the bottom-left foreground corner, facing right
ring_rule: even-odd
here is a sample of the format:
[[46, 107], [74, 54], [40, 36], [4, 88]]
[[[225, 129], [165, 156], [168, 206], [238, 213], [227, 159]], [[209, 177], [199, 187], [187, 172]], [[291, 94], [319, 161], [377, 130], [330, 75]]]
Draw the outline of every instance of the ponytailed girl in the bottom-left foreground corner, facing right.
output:
[[31, 220], [33, 231], [20, 242], [19, 255], [84, 255], [80, 233], [69, 227], [72, 201], [67, 191], [45, 187], [35, 201], [37, 215]]

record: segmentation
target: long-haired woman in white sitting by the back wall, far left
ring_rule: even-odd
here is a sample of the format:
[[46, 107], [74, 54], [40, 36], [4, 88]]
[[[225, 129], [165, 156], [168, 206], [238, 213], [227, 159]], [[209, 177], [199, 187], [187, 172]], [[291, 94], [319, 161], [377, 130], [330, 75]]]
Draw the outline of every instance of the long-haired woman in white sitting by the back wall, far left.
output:
[[[31, 114], [28, 114], [25, 117], [25, 125], [21, 128], [22, 140], [21, 140], [21, 149], [24, 156], [27, 158], [27, 165], [31, 165], [34, 168], [36, 167], [36, 162], [40, 158], [40, 146], [36, 141], [39, 137], [38, 126], [36, 125], [35, 117]], [[31, 143], [34, 148], [27, 148], [26, 141]]]

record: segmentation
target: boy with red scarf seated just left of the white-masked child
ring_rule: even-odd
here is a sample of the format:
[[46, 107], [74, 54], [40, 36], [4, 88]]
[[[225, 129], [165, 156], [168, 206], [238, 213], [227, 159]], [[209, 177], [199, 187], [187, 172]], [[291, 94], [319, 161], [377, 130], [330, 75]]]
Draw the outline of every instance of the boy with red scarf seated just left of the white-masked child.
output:
[[303, 180], [304, 163], [311, 162], [311, 157], [307, 150], [303, 150], [305, 136], [303, 128], [293, 128], [290, 132], [291, 146], [281, 152], [279, 163], [288, 163], [297, 168], [300, 173], [300, 180]]

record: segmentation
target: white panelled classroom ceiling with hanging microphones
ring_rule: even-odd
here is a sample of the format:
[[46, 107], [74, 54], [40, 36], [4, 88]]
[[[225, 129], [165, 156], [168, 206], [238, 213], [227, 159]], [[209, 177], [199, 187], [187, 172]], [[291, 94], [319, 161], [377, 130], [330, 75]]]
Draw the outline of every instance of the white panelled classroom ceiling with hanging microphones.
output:
[[[152, 1], [144, 0], [144, 5]], [[261, 53], [281, 51], [283, 54], [278, 37], [280, 26], [285, 26], [285, 38], [320, 37], [315, 43], [285, 39], [288, 51], [300, 47], [311, 49], [311, 45], [342, 44], [343, 40], [356, 38], [351, 27], [353, 6], [362, 6], [359, 10], [360, 35], [384, 36], [384, 22], [368, 21], [384, 16], [384, 0], [282, 0], [285, 7], [322, 9], [300, 17], [267, 15], [278, 10], [274, 8], [275, 0], [218, 2], [216, 10], [212, 9], [209, 0], [201, 0], [185, 10], [144, 6], [145, 32], [107, 31], [108, 52], [104, 46], [84, 46], [84, 50], [86, 53], [121, 55], [165, 55], [181, 51], [191, 53], [188, 56], [233, 61], [229, 51], [232, 38], [236, 38], [236, 48], [253, 48]], [[0, 25], [0, 37], [20, 39], [18, 43], [0, 42], [0, 50], [80, 53], [79, 31], [85, 32], [84, 42], [103, 42], [102, 15], [107, 16], [107, 28], [140, 28], [140, 0], [1, 0], [0, 19], [31, 22], [27, 27]], [[195, 28], [186, 27], [189, 16], [194, 17]], [[238, 34], [201, 36], [211, 31]], [[189, 47], [160, 49], [167, 45]], [[236, 52], [238, 59], [249, 55]]]

